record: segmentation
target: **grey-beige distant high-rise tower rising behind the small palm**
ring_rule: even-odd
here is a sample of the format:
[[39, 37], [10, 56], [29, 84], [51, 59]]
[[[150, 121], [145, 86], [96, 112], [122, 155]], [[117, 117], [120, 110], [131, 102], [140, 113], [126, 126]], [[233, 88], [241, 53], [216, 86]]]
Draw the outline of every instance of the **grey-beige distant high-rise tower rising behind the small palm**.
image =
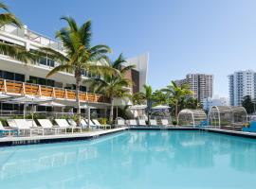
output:
[[188, 74], [186, 78], [175, 80], [177, 85], [187, 83], [190, 86], [194, 98], [202, 102], [204, 98], [212, 97], [213, 94], [213, 75], [207, 74]]

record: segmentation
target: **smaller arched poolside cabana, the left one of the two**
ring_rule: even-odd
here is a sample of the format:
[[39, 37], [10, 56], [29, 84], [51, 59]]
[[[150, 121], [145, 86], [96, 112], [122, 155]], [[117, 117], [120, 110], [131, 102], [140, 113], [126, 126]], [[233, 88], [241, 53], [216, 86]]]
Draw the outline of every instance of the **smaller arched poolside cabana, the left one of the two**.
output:
[[203, 110], [184, 109], [178, 113], [177, 125], [195, 127], [202, 125], [207, 120], [207, 114]]

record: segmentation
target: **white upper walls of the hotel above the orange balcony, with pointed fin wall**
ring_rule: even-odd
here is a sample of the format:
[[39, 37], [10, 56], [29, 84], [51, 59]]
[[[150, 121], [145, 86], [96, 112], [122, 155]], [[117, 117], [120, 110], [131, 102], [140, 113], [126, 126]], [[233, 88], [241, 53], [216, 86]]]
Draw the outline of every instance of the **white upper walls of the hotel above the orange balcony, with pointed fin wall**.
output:
[[[64, 54], [63, 45], [61, 42], [56, 41], [54, 39], [50, 39], [41, 34], [38, 34], [34, 31], [31, 31], [24, 26], [23, 28], [17, 28], [16, 26], [2, 26], [0, 28], [0, 40], [7, 43], [14, 43], [21, 46], [25, 46], [27, 50], [29, 49], [38, 49], [40, 47], [51, 47], [55, 50]], [[139, 87], [146, 84], [147, 81], [147, 71], [148, 71], [148, 54], [138, 56], [137, 58], [133, 58], [128, 60], [131, 64], [137, 65], [137, 71], [139, 72]], [[31, 81], [31, 78], [36, 77], [38, 80], [46, 79], [47, 73], [56, 65], [59, 65], [58, 62], [53, 60], [44, 58], [44, 60], [40, 60], [38, 62], [27, 63], [27, 65], [21, 61], [13, 60], [7, 56], [0, 55], [0, 72], [5, 75], [22, 75], [22, 79], [19, 80], [21, 82]], [[1, 74], [0, 73], [0, 74]], [[3, 77], [3, 76], [0, 76]], [[88, 72], [82, 73], [82, 79], [87, 77], [94, 77]], [[15, 78], [7, 78], [10, 80], [15, 80]], [[52, 81], [52, 87], [58, 88], [71, 88], [74, 89], [75, 78], [73, 74], [66, 72], [59, 72], [46, 80]], [[42, 83], [35, 83], [41, 84]], [[47, 84], [46, 84], [47, 85]], [[81, 84], [83, 87], [83, 91], [88, 91], [88, 86], [85, 84]], [[142, 89], [142, 88], [141, 88]]]

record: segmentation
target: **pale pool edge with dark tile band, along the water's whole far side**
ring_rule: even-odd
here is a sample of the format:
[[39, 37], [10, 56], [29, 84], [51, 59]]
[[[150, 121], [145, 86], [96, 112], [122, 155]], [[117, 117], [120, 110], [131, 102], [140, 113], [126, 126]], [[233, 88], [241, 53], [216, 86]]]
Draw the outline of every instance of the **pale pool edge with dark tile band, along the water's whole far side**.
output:
[[36, 145], [36, 144], [46, 144], [46, 143], [58, 143], [58, 142], [69, 142], [78, 140], [90, 140], [99, 138], [100, 136], [112, 134], [115, 132], [121, 132], [123, 130], [201, 130], [206, 132], [214, 132], [219, 134], [226, 134], [232, 136], [254, 138], [256, 139], [255, 132], [245, 132], [245, 131], [235, 131], [227, 129], [211, 129], [211, 128], [189, 128], [189, 127], [122, 127], [117, 129], [106, 129], [106, 130], [96, 130], [87, 132], [77, 132], [73, 134], [55, 134], [55, 135], [34, 135], [34, 136], [21, 136], [21, 137], [3, 137], [0, 138], [0, 146], [20, 146], [20, 145]]

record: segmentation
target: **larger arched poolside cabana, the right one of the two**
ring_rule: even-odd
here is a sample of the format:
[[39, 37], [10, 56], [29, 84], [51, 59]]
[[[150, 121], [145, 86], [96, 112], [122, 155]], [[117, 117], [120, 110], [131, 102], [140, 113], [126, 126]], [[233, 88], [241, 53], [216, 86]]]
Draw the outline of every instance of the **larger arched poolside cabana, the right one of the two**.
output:
[[212, 128], [241, 130], [247, 124], [247, 111], [244, 107], [213, 106], [208, 122]]

